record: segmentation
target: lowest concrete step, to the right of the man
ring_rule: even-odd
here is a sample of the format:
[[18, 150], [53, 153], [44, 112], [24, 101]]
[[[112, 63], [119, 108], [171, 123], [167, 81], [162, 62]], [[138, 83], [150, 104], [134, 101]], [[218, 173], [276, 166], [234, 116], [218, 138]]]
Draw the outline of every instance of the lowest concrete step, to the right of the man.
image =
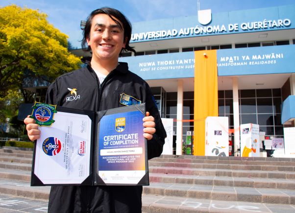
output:
[[289, 189], [150, 183], [150, 186], [144, 187], [144, 193], [208, 200], [295, 204], [295, 190]]

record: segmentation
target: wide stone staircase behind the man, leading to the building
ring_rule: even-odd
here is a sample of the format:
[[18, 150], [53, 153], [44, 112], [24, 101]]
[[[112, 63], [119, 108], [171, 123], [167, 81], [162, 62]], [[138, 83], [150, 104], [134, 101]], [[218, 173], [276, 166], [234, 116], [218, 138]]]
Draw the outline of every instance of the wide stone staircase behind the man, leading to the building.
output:
[[[30, 187], [32, 151], [0, 149], [0, 194], [46, 199]], [[295, 213], [295, 159], [165, 155], [149, 160], [143, 213]]]

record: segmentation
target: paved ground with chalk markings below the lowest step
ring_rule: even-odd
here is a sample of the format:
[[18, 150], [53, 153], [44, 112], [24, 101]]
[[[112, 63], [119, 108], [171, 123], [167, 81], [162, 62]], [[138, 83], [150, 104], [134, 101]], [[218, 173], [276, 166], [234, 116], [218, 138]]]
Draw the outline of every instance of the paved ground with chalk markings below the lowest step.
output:
[[[153, 213], [168, 213], [165, 205], [170, 205], [178, 213], [211, 212], [211, 213], [295, 213], [295, 205], [253, 204], [247, 202], [226, 202], [176, 197], [146, 195], [143, 200], [145, 206]], [[0, 213], [45, 213], [47, 200], [27, 199], [24, 197], [0, 194]], [[171, 210], [169, 210], [171, 211]], [[174, 212], [174, 211], [173, 211]]]

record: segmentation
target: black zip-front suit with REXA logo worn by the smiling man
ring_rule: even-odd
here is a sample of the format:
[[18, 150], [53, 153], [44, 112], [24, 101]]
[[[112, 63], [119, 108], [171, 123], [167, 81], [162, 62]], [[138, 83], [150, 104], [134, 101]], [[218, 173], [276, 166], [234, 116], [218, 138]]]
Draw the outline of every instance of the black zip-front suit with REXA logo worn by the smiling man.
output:
[[[122, 94], [141, 100], [156, 123], [156, 133], [148, 141], [148, 159], [158, 157], [166, 132], [147, 82], [128, 71], [127, 63], [120, 62], [99, 84], [90, 60], [82, 60], [86, 67], [59, 76], [49, 86], [47, 103], [101, 111], [124, 106], [120, 103]], [[136, 213], [141, 212], [141, 194], [141, 186], [51, 187], [48, 210], [49, 213]]]

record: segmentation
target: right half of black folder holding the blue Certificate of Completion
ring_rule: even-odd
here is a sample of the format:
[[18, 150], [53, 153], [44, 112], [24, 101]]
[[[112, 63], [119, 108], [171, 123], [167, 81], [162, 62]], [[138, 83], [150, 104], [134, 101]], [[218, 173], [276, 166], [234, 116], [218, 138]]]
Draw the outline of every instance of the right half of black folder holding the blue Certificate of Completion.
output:
[[145, 104], [98, 112], [95, 185], [148, 185]]

